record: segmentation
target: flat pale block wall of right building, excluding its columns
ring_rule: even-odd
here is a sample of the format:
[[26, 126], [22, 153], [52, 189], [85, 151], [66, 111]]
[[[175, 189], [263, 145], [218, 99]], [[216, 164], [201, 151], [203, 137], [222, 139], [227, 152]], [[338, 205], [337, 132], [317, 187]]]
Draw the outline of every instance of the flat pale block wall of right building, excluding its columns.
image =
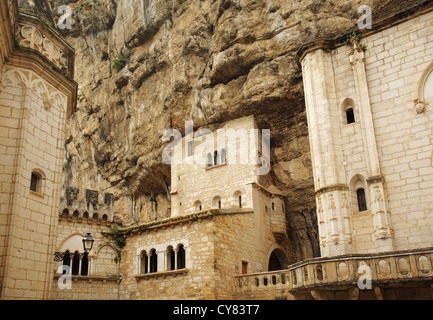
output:
[[[379, 163], [385, 178], [388, 206], [394, 229], [394, 249], [414, 249], [433, 244], [433, 166], [431, 98], [418, 114], [414, 100], [423, 73], [433, 62], [433, 13], [415, 17], [364, 38], [365, 64]], [[344, 101], [356, 101], [350, 46], [332, 52], [346, 181], [351, 192], [356, 252], [374, 252], [370, 212], [359, 213], [354, 178], [367, 178], [359, 122], [345, 124]], [[427, 89], [432, 92], [433, 88]], [[359, 116], [356, 113], [356, 116]], [[367, 192], [368, 189], [366, 188]], [[368, 195], [367, 195], [367, 198]]]

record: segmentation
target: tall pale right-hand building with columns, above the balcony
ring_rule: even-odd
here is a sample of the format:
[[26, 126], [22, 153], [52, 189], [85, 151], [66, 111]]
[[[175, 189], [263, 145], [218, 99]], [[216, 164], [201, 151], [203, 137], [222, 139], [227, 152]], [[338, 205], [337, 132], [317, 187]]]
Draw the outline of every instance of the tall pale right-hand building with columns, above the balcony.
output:
[[301, 56], [323, 256], [433, 244], [432, 18]]

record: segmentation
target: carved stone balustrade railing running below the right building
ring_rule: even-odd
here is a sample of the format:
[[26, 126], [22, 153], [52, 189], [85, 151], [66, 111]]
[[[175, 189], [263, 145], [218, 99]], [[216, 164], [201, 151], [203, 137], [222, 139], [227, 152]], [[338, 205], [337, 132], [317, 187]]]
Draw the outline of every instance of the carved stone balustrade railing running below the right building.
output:
[[[433, 280], [433, 248], [387, 254], [315, 258], [286, 270], [237, 276], [240, 294], [276, 298], [320, 289], [350, 289]], [[363, 289], [362, 287], [360, 289]], [[371, 289], [371, 288], [366, 288]]]

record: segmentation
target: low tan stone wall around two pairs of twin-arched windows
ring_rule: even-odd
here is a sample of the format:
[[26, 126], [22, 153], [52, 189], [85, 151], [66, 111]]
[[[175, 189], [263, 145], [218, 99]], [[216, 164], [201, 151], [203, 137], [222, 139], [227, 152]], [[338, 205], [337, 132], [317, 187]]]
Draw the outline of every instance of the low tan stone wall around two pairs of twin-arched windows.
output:
[[[214, 299], [214, 232], [214, 221], [202, 219], [126, 236], [121, 299]], [[167, 272], [166, 250], [179, 244], [185, 248], [186, 268], [181, 273]], [[144, 275], [140, 271], [141, 252], [152, 249], [158, 255], [158, 271]]]

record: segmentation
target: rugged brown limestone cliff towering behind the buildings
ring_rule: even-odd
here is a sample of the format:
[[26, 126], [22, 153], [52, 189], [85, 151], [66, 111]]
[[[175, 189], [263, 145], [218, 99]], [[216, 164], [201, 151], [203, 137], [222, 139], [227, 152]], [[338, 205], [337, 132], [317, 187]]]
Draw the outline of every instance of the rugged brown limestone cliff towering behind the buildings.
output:
[[286, 195], [298, 259], [318, 253], [302, 74], [294, 56], [302, 43], [353, 28], [361, 4], [378, 12], [399, 1], [36, 2], [53, 10], [53, 21], [59, 5], [73, 8], [73, 28], [63, 34], [76, 50], [79, 92], [67, 124], [65, 184], [81, 193], [113, 193], [123, 225], [152, 219], [152, 197], [158, 216], [167, 216], [164, 130], [184, 131], [186, 120], [216, 128], [253, 114], [272, 132], [272, 173]]

